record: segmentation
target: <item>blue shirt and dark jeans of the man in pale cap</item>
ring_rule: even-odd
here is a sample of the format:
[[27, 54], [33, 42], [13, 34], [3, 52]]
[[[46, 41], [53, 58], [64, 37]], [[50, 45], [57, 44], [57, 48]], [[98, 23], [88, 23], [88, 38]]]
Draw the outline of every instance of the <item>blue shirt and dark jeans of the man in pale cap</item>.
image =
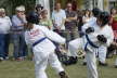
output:
[[24, 26], [23, 24], [27, 23], [25, 20], [17, 17], [17, 15], [13, 15], [12, 17], [12, 39], [14, 44], [14, 57], [24, 57], [26, 56], [27, 47], [24, 37]]

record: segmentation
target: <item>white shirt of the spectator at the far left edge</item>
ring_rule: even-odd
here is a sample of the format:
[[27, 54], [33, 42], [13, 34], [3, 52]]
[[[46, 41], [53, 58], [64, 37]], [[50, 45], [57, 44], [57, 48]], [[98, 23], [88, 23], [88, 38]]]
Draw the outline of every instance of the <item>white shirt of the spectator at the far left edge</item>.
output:
[[0, 34], [9, 34], [12, 23], [9, 16], [0, 17]]

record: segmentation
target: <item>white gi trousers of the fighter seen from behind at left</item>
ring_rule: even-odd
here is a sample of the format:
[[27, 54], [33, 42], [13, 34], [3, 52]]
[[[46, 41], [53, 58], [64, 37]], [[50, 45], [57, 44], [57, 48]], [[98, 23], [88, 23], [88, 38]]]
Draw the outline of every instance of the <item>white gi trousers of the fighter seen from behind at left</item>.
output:
[[57, 56], [54, 52], [37, 52], [34, 50], [36, 78], [48, 78], [46, 68], [50, 64], [56, 73], [64, 72]]

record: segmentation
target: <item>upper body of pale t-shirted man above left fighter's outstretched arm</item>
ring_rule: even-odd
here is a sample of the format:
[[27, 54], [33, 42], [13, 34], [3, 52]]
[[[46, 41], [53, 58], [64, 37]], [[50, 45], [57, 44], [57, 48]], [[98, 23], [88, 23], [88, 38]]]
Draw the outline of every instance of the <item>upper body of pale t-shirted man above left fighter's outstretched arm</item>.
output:
[[55, 4], [55, 10], [52, 12], [52, 21], [54, 24], [54, 30], [64, 36], [65, 30], [65, 20], [66, 14], [65, 11], [61, 9], [61, 3]]

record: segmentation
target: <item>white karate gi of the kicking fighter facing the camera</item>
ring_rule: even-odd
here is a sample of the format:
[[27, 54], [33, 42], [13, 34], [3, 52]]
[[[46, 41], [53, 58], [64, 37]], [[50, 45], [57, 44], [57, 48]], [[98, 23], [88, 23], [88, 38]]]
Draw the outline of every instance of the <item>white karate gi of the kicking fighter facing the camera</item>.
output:
[[[98, 47], [104, 46], [104, 47], [108, 47], [114, 39], [114, 35], [113, 35], [113, 29], [110, 26], [106, 25], [103, 28], [101, 28], [100, 26], [96, 25], [96, 22], [94, 23], [90, 23], [83, 26], [83, 31], [86, 31], [86, 29], [88, 27], [94, 27], [94, 32], [89, 34], [89, 38], [90, 40], [96, 44]], [[106, 43], [102, 43], [96, 39], [98, 35], [104, 35], [104, 37], [106, 37], [107, 42]], [[69, 42], [68, 46], [68, 51], [69, 54], [72, 56], [77, 56], [77, 50], [78, 49], [84, 49], [84, 46], [87, 43], [87, 39], [86, 36], [83, 36], [82, 38], [78, 38], [75, 39], [73, 41]], [[86, 51], [86, 60], [87, 60], [87, 67], [88, 67], [88, 78], [99, 78], [98, 77], [98, 70], [96, 70], [96, 56], [95, 56], [95, 52], [98, 52], [98, 48], [93, 48], [92, 46], [90, 46], [88, 43], [87, 46], [87, 51]]]

